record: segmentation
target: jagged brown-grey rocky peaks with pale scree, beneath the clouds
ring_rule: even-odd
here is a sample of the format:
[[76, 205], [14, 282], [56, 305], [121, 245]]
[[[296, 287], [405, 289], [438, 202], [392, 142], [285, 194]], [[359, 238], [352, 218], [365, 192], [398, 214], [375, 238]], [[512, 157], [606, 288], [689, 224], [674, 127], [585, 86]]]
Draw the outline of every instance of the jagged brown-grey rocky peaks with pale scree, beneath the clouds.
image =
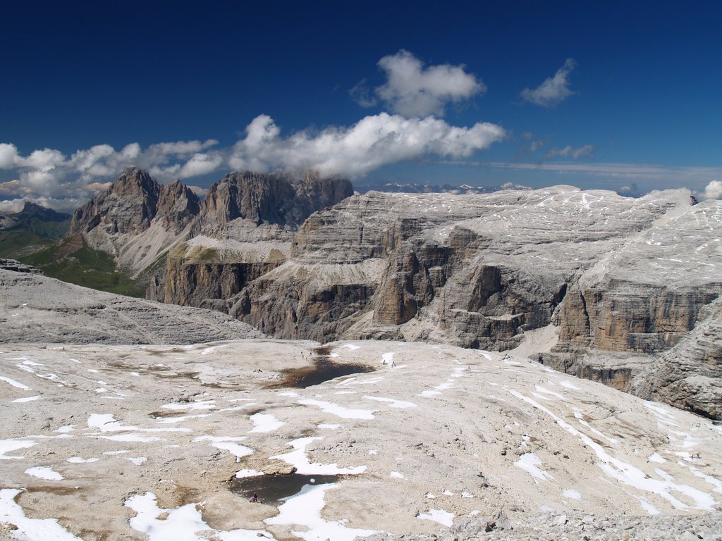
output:
[[131, 167], [75, 212], [70, 232], [82, 233], [92, 247], [110, 253], [138, 276], [193, 237], [230, 238], [235, 235], [229, 229], [261, 228], [266, 236], [286, 241], [305, 217], [347, 197], [351, 189], [348, 180], [313, 173], [301, 179], [230, 173], [199, 201], [179, 180], [160, 185]]

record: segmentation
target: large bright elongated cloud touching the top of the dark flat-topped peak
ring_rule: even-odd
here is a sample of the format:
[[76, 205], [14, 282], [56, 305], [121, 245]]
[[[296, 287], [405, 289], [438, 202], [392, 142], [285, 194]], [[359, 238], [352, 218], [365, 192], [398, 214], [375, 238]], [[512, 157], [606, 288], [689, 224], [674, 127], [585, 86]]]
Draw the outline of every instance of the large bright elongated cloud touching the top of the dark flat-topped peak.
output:
[[500, 126], [477, 123], [471, 128], [450, 126], [433, 117], [367, 116], [350, 127], [300, 131], [287, 138], [268, 115], [246, 128], [247, 136], [232, 149], [234, 170], [271, 171], [313, 168], [325, 175], [365, 175], [382, 165], [428, 154], [469, 157], [505, 137]]

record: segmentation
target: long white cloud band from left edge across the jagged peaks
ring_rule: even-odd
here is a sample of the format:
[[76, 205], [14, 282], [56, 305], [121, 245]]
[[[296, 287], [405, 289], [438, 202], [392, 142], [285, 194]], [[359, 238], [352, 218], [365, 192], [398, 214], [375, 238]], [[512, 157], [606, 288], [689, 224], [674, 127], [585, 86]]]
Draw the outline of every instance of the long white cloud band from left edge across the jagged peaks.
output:
[[0, 198], [69, 208], [105, 190], [131, 165], [148, 170], [160, 182], [229, 170], [317, 169], [323, 174], [357, 177], [385, 164], [427, 155], [469, 157], [505, 135], [503, 128], [491, 123], [456, 127], [434, 117], [409, 119], [381, 113], [352, 126], [282, 136], [268, 115], [259, 115], [246, 128], [245, 137], [227, 148], [217, 148], [218, 141], [208, 139], [146, 148], [131, 143], [120, 150], [99, 144], [70, 156], [38, 149], [23, 156], [13, 144], [0, 144], [0, 169], [17, 175], [0, 182]]

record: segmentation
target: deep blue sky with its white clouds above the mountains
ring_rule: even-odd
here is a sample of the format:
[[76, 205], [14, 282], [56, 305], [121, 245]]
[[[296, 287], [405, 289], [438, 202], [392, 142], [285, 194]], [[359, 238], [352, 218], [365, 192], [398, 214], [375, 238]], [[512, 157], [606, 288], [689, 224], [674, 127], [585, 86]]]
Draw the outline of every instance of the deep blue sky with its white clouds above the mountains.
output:
[[18, 4], [0, 209], [129, 164], [722, 195], [717, 2]]

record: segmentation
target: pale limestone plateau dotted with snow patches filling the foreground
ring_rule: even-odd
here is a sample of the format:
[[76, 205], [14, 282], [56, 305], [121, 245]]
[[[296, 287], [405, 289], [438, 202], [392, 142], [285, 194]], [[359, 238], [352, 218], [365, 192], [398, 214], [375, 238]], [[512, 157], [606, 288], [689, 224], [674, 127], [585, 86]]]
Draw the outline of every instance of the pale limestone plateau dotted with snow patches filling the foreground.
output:
[[[30, 278], [48, 296], [71, 287]], [[23, 291], [6, 286], [6, 312]], [[95, 310], [97, 325], [117, 319]], [[87, 325], [82, 309], [62, 313]], [[670, 521], [682, 527], [664, 535], [719, 538], [721, 426], [523, 348], [17, 332], [0, 345], [1, 539], [653, 539]], [[373, 370], [292, 387], [287, 371], [316, 361]], [[256, 479], [251, 493], [238, 485]]]

